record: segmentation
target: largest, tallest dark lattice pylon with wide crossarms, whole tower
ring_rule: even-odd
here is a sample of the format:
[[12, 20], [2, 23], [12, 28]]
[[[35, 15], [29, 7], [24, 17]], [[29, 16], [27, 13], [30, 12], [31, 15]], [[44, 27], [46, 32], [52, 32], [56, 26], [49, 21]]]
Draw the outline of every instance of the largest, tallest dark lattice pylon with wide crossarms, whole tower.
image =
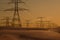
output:
[[19, 3], [25, 3], [22, 0], [11, 0], [10, 3], [14, 3], [14, 8], [12, 9], [6, 9], [5, 11], [14, 11], [14, 15], [13, 15], [13, 19], [12, 19], [12, 26], [18, 26], [18, 27], [22, 27], [21, 25], [21, 20], [20, 20], [20, 15], [19, 15], [19, 11], [24, 11], [24, 10], [28, 10], [26, 8], [19, 8]]

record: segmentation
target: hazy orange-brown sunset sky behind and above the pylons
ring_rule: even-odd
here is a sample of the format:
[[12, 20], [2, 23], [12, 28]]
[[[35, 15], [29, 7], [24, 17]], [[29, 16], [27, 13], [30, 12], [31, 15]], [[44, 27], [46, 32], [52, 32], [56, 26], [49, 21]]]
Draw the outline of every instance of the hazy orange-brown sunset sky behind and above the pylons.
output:
[[[0, 0], [0, 10], [13, 8], [13, 4], [7, 4], [9, 1], [11, 0]], [[60, 0], [26, 0], [25, 3], [23, 7], [29, 10], [20, 13], [20, 18], [24, 22], [25, 20], [35, 22], [38, 17], [44, 17], [44, 20], [60, 25]], [[0, 11], [0, 18], [6, 16], [12, 17], [13, 12]]]

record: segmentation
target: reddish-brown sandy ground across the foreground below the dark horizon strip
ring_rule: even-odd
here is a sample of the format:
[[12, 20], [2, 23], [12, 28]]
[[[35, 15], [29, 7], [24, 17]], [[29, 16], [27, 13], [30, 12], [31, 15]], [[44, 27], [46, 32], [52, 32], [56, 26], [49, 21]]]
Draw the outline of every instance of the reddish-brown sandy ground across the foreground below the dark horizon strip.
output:
[[0, 32], [17, 33], [18, 38], [12, 35], [0, 36], [0, 40], [60, 40], [60, 33], [44, 30], [1, 30]]

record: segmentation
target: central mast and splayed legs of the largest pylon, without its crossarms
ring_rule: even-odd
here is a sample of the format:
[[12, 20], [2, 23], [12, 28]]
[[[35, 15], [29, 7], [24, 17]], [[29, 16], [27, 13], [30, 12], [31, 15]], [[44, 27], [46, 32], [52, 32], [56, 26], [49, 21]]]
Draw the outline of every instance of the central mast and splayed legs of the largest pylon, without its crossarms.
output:
[[[14, 0], [14, 3], [15, 3], [15, 9], [14, 9], [14, 15], [13, 15], [13, 19], [12, 19], [12, 26], [18, 25], [18, 26], [21, 27], [22, 25], [21, 25], [19, 11], [18, 11], [18, 3], [19, 3], [19, 1]], [[16, 21], [18, 21], [18, 22], [16, 22]], [[15, 23], [17, 23], [17, 24], [15, 24]]]

